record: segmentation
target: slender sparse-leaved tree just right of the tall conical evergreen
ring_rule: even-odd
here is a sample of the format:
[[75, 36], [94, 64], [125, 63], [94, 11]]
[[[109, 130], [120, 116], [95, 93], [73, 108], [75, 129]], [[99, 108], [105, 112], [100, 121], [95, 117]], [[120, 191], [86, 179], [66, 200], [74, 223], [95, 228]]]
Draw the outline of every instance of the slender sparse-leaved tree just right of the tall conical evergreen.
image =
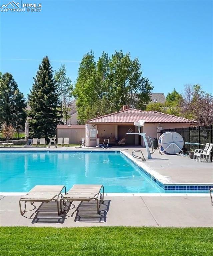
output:
[[72, 98], [73, 85], [69, 77], [66, 76], [66, 67], [61, 65], [54, 76], [59, 88], [59, 97], [61, 100], [61, 122], [67, 124], [67, 120], [71, 117], [70, 111], [74, 99]]

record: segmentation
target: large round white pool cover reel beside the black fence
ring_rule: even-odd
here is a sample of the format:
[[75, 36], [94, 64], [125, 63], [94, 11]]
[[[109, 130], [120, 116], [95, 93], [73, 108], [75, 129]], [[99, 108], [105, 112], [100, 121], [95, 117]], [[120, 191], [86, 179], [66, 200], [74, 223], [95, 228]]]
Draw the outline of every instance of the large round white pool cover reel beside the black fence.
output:
[[182, 151], [184, 141], [177, 132], [165, 132], [160, 136], [158, 144], [159, 153], [177, 154]]

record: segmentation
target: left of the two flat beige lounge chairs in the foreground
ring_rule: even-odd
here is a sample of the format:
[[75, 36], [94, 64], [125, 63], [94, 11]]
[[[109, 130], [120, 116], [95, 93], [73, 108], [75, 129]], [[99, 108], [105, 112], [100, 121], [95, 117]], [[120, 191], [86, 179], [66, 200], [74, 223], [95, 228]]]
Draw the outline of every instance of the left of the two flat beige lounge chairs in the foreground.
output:
[[[60, 215], [60, 208], [59, 208], [59, 196], [62, 195], [62, 190], [65, 189], [66, 194], [66, 187], [63, 185], [37, 185], [33, 189], [23, 196], [19, 200], [19, 208], [20, 213], [23, 215], [26, 212], [26, 204], [30, 202], [32, 205], [34, 202], [50, 202], [55, 201], [57, 202], [57, 210], [58, 215]], [[21, 202], [24, 201], [24, 211], [21, 209]]]

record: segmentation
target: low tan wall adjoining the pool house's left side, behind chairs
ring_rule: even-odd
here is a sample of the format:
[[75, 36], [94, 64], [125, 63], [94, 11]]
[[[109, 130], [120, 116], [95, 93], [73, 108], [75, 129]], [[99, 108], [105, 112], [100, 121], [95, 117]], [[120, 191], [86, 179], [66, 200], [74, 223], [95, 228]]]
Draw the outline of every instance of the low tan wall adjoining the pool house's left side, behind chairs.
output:
[[58, 128], [57, 129], [57, 138], [69, 138], [70, 144], [79, 144], [81, 138], [85, 138], [85, 129], [84, 128]]

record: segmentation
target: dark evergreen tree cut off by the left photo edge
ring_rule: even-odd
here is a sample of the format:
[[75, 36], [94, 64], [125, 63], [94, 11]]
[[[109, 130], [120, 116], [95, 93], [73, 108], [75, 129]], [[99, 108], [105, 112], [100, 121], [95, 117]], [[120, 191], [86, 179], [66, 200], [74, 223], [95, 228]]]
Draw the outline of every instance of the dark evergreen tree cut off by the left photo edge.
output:
[[10, 73], [0, 72], [0, 124], [18, 128], [24, 126], [26, 119], [26, 101], [23, 93]]

